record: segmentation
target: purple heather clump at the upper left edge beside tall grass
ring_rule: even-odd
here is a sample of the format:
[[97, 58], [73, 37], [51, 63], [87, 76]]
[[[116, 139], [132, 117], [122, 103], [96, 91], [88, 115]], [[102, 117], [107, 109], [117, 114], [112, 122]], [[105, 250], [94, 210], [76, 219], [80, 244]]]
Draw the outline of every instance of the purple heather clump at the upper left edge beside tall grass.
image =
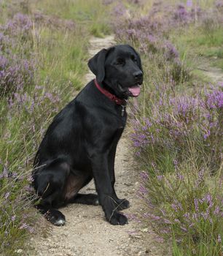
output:
[[0, 97], [33, 83], [35, 61], [30, 56], [24, 58], [31, 29], [31, 20], [21, 14], [0, 27]]

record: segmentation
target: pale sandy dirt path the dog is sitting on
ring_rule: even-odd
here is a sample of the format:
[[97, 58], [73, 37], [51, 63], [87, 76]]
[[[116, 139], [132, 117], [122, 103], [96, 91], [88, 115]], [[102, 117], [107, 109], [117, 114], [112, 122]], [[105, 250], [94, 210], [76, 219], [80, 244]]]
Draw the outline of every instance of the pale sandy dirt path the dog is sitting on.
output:
[[[114, 43], [114, 37], [90, 40], [90, 55], [101, 48], [108, 48]], [[86, 80], [93, 79], [92, 74]], [[123, 135], [117, 148], [115, 159], [116, 190], [120, 198], [130, 200], [130, 208], [125, 214], [135, 214], [140, 210], [140, 201], [136, 197], [138, 173], [129, 151], [128, 136]], [[91, 182], [82, 192], [95, 192]], [[49, 225], [47, 236], [39, 233], [31, 239], [34, 255], [38, 256], [115, 256], [115, 255], [163, 255], [152, 246], [153, 237], [143, 233], [142, 227], [129, 218], [125, 226], [113, 226], [106, 222], [101, 206], [73, 204], [61, 208], [66, 216], [66, 225], [55, 227], [42, 218], [43, 226]], [[147, 236], [147, 237], [145, 237]], [[28, 254], [32, 255], [32, 254]]]

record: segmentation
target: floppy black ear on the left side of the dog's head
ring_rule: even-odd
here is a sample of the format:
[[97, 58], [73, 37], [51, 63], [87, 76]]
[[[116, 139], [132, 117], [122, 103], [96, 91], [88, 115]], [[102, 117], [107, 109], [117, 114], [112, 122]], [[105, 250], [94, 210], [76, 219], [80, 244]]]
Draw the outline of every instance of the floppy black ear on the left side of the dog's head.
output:
[[106, 49], [100, 50], [92, 59], [87, 63], [90, 70], [96, 75], [96, 79], [99, 83], [103, 81], [105, 76], [105, 60], [106, 60]]

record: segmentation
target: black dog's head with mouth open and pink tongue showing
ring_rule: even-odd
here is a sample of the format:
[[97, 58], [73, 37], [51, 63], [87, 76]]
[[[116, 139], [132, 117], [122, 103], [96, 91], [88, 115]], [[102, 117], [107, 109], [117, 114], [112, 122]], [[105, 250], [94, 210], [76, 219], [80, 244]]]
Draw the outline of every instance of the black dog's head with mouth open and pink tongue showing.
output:
[[141, 59], [130, 45], [102, 49], [88, 61], [98, 83], [109, 87], [118, 97], [137, 97], [143, 82]]

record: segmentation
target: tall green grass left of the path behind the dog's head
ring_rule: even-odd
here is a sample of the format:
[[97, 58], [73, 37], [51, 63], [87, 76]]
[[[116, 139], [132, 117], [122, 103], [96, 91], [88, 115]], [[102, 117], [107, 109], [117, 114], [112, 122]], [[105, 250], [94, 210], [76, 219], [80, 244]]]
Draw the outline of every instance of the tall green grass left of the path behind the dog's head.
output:
[[40, 37], [42, 40], [36, 53], [41, 63], [42, 80], [50, 78], [58, 87], [72, 83], [75, 89], [80, 89], [85, 83], [83, 75], [87, 72], [88, 37], [80, 40], [80, 31], [62, 32], [47, 28], [40, 31]]

